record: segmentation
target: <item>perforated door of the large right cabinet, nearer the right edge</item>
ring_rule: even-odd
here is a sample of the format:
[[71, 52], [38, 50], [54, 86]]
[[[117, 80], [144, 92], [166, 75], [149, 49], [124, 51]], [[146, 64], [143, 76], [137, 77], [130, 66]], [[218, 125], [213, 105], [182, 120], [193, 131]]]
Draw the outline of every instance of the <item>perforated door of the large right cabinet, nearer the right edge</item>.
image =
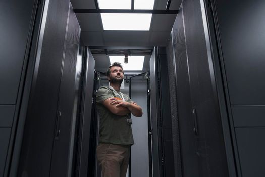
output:
[[[197, 122], [195, 135], [199, 173], [196, 176], [228, 176], [215, 75], [207, 56], [200, 1], [184, 1], [183, 17], [187, 48], [190, 88]], [[207, 31], [206, 31], [207, 32]], [[192, 110], [191, 110], [192, 111]]]

